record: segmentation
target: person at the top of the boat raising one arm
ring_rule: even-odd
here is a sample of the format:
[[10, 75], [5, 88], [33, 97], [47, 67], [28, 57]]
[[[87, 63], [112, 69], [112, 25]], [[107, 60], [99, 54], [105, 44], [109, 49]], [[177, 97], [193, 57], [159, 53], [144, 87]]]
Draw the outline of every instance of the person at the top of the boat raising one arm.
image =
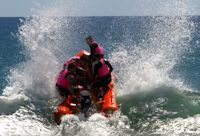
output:
[[103, 54], [103, 48], [92, 38], [92, 36], [88, 36], [85, 40], [90, 47], [90, 59], [93, 62], [95, 61], [94, 54], [97, 52], [102, 52]]

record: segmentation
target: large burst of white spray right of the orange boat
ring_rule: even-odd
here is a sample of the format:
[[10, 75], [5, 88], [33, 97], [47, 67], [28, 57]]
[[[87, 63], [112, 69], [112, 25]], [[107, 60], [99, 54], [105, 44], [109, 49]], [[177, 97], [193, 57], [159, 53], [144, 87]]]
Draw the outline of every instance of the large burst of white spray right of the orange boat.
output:
[[[186, 17], [152, 18], [151, 31], [139, 45], [122, 45], [111, 55], [121, 80], [121, 94], [152, 90], [159, 86], [187, 88], [182, 79], [173, 77], [173, 68], [190, 48], [194, 25]], [[125, 37], [125, 36], [124, 36]], [[125, 40], [131, 39], [129, 35]], [[119, 64], [120, 62], [120, 64]]]

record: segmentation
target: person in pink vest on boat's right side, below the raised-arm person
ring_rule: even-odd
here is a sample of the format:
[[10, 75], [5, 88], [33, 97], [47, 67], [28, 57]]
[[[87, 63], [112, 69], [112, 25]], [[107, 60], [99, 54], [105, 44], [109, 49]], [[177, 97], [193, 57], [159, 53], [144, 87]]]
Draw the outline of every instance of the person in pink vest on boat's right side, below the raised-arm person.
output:
[[102, 99], [104, 95], [105, 87], [112, 81], [111, 72], [113, 67], [108, 60], [104, 59], [102, 53], [94, 54], [95, 61], [92, 63], [92, 73], [95, 78], [95, 82], [92, 87], [98, 89], [98, 98]]

